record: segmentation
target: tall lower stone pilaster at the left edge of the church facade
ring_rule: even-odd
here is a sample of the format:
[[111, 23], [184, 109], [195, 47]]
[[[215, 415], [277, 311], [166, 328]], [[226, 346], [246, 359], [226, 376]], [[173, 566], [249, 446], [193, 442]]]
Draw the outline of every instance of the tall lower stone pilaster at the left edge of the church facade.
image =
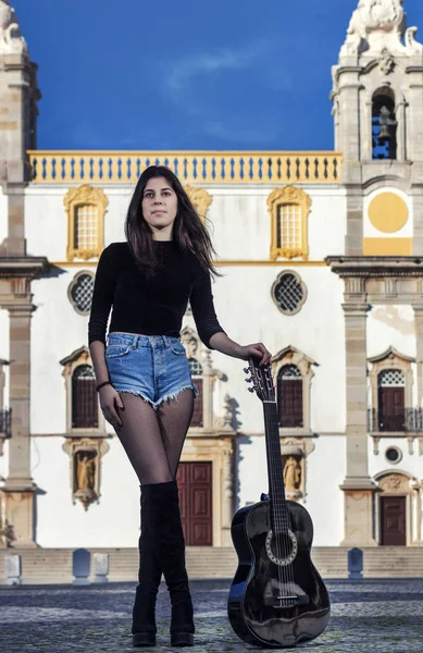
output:
[[[27, 285], [29, 286], [29, 281]], [[12, 545], [15, 547], [36, 546], [33, 520], [36, 485], [30, 478], [29, 432], [30, 318], [34, 306], [29, 303], [29, 297], [26, 294], [21, 300], [16, 298], [12, 304], [2, 304], [10, 313], [9, 404], [12, 409], [9, 475], [2, 492], [5, 494], [5, 518], [13, 528]]]

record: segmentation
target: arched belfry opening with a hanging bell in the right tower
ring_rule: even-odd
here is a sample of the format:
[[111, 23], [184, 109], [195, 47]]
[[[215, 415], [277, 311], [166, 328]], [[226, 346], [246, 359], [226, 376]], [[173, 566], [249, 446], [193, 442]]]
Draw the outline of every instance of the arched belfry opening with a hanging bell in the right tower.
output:
[[397, 158], [395, 95], [389, 87], [377, 89], [372, 98], [373, 159]]

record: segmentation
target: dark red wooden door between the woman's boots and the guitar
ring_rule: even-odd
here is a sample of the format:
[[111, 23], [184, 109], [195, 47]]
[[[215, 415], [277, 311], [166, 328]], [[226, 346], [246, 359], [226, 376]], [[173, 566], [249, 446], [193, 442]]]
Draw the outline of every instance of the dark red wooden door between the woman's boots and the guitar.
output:
[[176, 480], [186, 545], [212, 546], [212, 463], [181, 463]]

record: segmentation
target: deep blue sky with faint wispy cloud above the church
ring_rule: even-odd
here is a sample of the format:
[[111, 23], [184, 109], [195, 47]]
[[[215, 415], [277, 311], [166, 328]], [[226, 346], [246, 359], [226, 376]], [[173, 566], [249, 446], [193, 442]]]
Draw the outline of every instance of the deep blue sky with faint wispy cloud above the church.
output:
[[[358, 0], [12, 0], [40, 149], [332, 149]], [[423, 40], [422, 0], [406, 0]]]

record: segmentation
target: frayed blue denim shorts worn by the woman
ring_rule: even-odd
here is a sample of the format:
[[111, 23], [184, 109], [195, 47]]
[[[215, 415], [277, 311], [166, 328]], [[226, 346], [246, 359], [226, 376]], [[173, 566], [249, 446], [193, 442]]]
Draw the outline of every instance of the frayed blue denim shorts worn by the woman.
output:
[[198, 395], [185, 347], [177, 337], [112, 332], [105, 362], [114, 390], [142, 397], [154, 410], [187, 387]]

